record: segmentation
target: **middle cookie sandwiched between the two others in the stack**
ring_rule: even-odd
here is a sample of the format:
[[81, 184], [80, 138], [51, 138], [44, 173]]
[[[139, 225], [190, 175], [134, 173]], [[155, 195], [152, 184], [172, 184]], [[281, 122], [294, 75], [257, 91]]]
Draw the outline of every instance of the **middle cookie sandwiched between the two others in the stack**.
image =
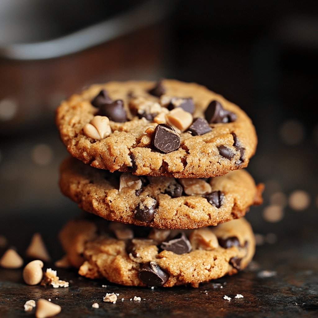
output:
[[102, 218], [169, 229], [240, 218], [261, 203], [263, 189], [245, 170], [210, 179], [147, 177], [111, 173], [72, 157], [61, 164], [59, 185], [80, 208]]

